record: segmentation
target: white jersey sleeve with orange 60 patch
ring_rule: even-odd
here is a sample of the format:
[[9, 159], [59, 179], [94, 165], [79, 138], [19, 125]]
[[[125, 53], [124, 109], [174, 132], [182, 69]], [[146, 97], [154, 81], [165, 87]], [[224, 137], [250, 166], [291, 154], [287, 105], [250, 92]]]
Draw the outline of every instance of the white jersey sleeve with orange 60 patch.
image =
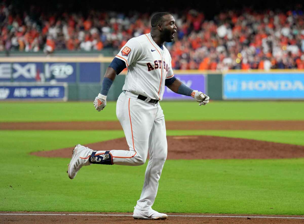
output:
[[131, 38], [115, 56], [118, 59], [123, 60], [126, 66], [129, 67], [133, 62], [139, 61], [142, 56], [142, 46], [140, 42]]

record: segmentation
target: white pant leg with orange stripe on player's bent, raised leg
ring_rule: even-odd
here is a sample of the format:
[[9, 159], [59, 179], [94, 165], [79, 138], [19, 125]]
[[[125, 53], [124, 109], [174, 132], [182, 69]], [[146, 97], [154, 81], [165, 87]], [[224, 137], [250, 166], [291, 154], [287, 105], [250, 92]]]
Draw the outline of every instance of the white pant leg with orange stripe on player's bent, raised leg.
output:
[[[143, 165], [148, 155], [149, 135], [157, 113], [157, 105], [119, 95], [116, 115], [126, 136], [129, 150], [110, 150], [117, 165]], [[109, 149], [108, 149], [109, 150]], [[101, 154], [105, 150], [97, 151]]]

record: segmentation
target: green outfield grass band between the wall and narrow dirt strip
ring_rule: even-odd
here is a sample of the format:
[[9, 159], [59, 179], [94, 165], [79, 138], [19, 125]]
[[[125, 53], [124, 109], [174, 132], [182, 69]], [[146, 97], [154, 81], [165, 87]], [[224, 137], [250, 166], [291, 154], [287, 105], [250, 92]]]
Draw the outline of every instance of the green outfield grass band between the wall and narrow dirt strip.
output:
[[[304, 120], [303, 102], [161, 102], [166, 121]], [[116, 121], [116, 102], [102, 112], [92, 102], [1, 102], [0, 122]]]

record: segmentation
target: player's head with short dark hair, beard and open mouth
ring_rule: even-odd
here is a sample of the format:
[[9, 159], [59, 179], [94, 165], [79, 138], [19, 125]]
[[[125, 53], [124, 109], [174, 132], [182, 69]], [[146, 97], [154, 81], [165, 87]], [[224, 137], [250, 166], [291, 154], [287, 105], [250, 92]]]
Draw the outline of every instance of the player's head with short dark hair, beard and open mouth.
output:
[[152, 29], [160, 32], [162, 40], [172, 42], [176, 32], [175, 20], [168, 12], [158, 12], [151, 18]]

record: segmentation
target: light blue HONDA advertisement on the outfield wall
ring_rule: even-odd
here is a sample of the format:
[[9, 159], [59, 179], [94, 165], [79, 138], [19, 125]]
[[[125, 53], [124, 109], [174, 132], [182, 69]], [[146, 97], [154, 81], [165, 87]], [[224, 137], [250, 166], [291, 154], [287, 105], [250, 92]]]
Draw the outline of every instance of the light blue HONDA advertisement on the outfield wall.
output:
[[304, 73], [231, 73], [223, 99], [304, 99]]

